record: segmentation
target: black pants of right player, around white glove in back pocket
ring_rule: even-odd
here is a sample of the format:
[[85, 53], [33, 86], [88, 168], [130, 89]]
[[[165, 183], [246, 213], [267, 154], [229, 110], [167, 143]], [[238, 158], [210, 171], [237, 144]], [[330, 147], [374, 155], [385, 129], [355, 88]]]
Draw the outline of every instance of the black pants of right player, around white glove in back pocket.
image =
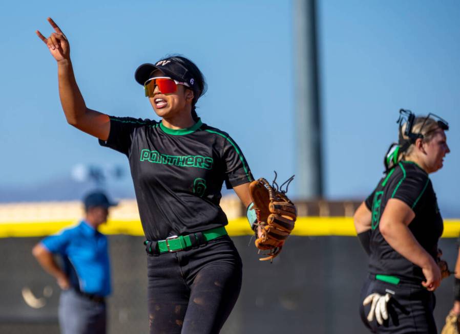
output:
[[[388, 320], [383, 325], [377, 321], [367, 321], [370, 304], [363, 306], [363, 300], [372, 293], [385, 295], [389, 293]], [[419, 283], [400, 282], [391, 284], [370, 276], [361, 290], [361, 319], [373, 333], [381, 334], [436, 334], [433, 310], [436, 304], [434, 293], [426, 290]]]

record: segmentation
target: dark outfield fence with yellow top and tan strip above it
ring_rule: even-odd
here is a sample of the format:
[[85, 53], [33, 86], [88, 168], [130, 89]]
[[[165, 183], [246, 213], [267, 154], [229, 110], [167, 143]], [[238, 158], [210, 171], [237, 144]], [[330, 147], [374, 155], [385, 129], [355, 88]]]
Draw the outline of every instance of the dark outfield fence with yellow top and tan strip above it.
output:
[[[67, 209], [57, 209], [60, 204]], [[40, 268], [31, 249], [44, 235], [74, 224], [81, 216], [78, 205], [0, 206], [0, 252], [4, 255], [0, 260], [0, 333], [59, 332], [59, 288]], [[113, 334], [148, 332], [144, 239], [132, 212], [137, 208], [128, 210], [129, 205], [132, 203], [121, 201], [120, 211], [113, 213], [102, 230], [109, 235], [110, 243], [113, 295], [108, 305], [109, 332]], [[321, 211], [318, 203], [311, 203], [313, 209], [308, 205], [305, 207], [310, 213], [315, 213], [314, 208], [318, 208], [317, 215]], [[322, 214], [344, 214], [346, 205], [338, 205], [337, 210], [323, 208]], [[35, 214], [32, 206], [37, 209]], [[61, 213], [51, 213], [53, 210]], [[358, 313], [367, 259], [354, 237], [351, 217], [299, 217], [294, 235], [270, 264], [258, 260], [247, 221], [239, 216], [241, 208], [229, 204], [225, 211], [230, 218], [227, 231], [240, 252], [244, 270], [239, 300], [222, 333], [367, 333]], [[456, 259], [459, 231], [459, 220], [446, 219], [440, 247], [451, 266]], [[452, 306], [452, 287], [453, 278], [449, 277], [436, 291], [438, 329]]]

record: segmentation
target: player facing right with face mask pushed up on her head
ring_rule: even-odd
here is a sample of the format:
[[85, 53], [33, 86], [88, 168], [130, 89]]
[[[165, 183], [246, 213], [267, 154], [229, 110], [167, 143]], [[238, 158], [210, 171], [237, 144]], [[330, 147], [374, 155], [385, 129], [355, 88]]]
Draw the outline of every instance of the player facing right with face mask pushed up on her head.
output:
[[372, 332], [432, 334], [443, 219], [429, 174], [443, 167], [449, 153], [448, 125], [407, 110], [402, 115], [409, 117], [400, 122], [400, 142], [386, 157], [386, 173], [354, 215], [369, 255], [360, 313]]

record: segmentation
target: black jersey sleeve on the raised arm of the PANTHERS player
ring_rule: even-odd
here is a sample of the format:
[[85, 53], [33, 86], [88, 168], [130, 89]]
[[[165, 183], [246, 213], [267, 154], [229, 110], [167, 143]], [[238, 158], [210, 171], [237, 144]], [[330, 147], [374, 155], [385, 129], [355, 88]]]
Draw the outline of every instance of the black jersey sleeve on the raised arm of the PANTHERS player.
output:
[[[107, 141], [99, 139], [99, 145], [110, 147], [129, 157], [131, 144], [137, 128], [148, 125], [148, 120], [132, 117], [110, 116], [110, 133]], [[152, 121], [149, 121], [152, 122]], [[156, 122], [152, 122], [156, 123]]]

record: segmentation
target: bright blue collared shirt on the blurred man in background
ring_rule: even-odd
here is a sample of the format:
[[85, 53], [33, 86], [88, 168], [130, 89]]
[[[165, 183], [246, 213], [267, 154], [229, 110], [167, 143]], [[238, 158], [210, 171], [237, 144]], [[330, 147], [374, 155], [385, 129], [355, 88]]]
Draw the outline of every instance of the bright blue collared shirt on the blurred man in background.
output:
[[79, 291], [108, 296], [112, 291], [107, 237], [82, 220], [73, 228], [41, 240], [64, 260], [64, 271]]

